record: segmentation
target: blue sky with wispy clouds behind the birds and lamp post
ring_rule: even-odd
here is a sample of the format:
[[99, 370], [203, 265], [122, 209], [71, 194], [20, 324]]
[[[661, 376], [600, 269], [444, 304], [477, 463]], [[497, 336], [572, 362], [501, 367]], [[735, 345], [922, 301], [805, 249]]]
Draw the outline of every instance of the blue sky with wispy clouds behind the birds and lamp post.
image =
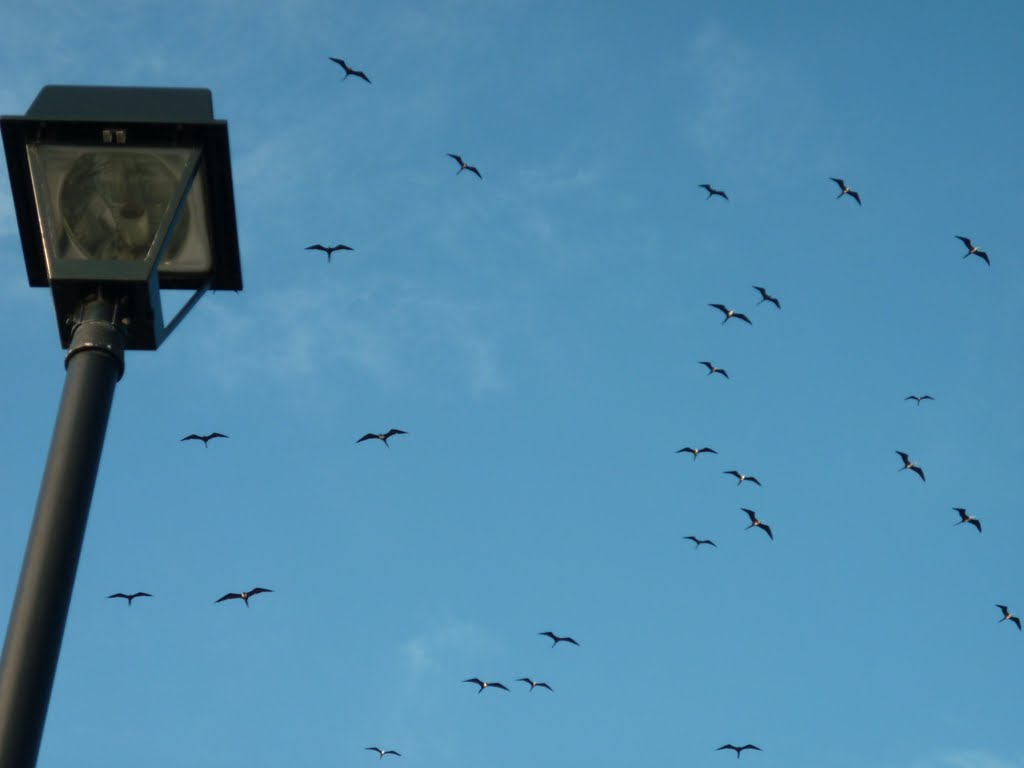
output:
[[[753, 742], [755, 768], [1024, 766], [1024, 637], [994, 607], [1024, 613], [1022, 24], [1011, 2], [6, 8], [3, 114], [48, 83], [213, 91], [246, 281], [128, 357], [40, 765], [729, 766], [715, 749]], [[62, 366], [9, 194], [0, 249], [9, 606]], [[274, 592], [213, 604], [253, 586]]]

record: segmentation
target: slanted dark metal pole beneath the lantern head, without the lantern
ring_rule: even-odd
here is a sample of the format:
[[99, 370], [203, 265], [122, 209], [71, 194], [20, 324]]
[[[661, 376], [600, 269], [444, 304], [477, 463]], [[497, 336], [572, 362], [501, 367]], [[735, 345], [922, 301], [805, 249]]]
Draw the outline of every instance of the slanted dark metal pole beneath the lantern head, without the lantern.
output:
[[86, 303], [65, 361], [60, 410], [0, 660], [0, 768], [33, 768], [39, 755], [114, 387], [124, 373], [116, 311], [99, 298]]

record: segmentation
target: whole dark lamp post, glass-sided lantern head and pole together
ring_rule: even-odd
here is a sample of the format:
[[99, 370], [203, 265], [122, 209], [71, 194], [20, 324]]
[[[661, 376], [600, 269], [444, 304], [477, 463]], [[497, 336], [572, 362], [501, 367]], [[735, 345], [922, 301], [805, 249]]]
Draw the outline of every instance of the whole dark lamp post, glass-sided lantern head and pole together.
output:
[[[42, 739], [125, 349], [157, 349], [208, 289], [241, 290], [227, 124], [210, 91], [46, 86], [0, 118], [30, 286], [67, 376], [0, 659], [0, 768]], [[165, 324], [161, 289], [193, 291]]]

